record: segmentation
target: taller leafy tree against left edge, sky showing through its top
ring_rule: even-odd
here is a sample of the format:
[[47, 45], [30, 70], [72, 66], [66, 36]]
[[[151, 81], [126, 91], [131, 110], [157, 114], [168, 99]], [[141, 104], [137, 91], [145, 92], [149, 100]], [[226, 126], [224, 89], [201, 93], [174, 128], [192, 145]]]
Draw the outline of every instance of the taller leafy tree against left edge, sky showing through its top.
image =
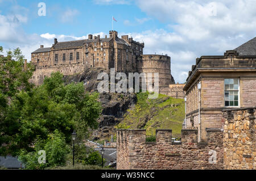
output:
[[[3, 48], [0, 47], [0, 52]], [[10, 112], [10, 104], [16, 99], [20, 91], [30, 91], [32, 84], [28, 81], [32, 75], [32, 68], [27, 64], [24, 70], [24, 60], [19, 48], [9, 50], [6, 57], [0, 56], [0, 154], [7, 154], [11, 146], [12, 137], [19, 127], [18, 117], [13, 115], [13, 119], [6, 117]], [[6, 145], [6, 146], [3, 146]]]

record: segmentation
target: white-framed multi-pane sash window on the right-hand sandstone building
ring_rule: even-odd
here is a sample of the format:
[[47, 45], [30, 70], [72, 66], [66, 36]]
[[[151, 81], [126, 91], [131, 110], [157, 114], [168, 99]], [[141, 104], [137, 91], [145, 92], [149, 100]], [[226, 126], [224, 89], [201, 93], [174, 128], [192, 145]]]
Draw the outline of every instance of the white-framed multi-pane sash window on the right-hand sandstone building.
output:
[[239, 106], [239, 79], [225, 78], [225, 106]]

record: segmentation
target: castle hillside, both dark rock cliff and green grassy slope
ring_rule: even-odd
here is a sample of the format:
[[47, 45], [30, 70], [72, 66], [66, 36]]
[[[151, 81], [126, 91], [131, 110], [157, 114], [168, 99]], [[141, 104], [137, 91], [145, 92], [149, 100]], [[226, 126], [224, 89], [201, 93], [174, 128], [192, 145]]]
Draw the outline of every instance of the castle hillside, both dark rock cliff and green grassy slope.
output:
[[[94, 92], [100, 82], [97, 76], [103, 71], [102, 68], [90, 68], [84, 73], [66, 76], [65, 82], [84, 82], [85, 90]], [[109, 140], [116, 128], [144, 128], [149, 135], [155, 129], [172, 129], [179, 136], [184, 120], [184, 100], [162, 94], [157, 99], [147, 97], [148, 93], [101, 93], [102, 113], [91, 140]]]

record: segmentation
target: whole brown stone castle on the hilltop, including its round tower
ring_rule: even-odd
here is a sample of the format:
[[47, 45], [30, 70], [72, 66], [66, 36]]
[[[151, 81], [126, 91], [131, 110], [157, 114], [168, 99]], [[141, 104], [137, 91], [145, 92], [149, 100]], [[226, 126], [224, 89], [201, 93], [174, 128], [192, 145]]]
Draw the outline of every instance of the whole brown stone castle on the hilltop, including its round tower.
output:
[[82, 73], [88, 68], [114, 68], [124, 73], [159, 73], [159, 86], [174, 82], [171, 75], [171, 58], [167, 55], [143, 54], [144, 43], [134, 41], [128, 35], [118, 37], [117, 31], [109, 31], [109, 37], [88, 35], [88, 39], [58, 42], [52, 47], [31, 53], [35, 66], [32, 82], [41, 85], [53, 71], [64, 75]]

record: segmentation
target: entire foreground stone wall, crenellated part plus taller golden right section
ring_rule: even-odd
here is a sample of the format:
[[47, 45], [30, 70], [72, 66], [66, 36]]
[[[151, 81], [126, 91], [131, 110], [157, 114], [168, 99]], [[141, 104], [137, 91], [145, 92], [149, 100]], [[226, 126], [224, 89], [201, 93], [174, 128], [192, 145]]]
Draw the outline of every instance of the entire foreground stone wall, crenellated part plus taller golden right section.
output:
[[[222, 112], [220, 128], [182, 129], [181, 145], [171, 142], [171, 130], [156, 130], [156, 142], [146, 142], [143, 129], [117, 129], [117, 169], [256, 169], [256, 107]], [[203, 124], [203, 123], [202, 123]]]

